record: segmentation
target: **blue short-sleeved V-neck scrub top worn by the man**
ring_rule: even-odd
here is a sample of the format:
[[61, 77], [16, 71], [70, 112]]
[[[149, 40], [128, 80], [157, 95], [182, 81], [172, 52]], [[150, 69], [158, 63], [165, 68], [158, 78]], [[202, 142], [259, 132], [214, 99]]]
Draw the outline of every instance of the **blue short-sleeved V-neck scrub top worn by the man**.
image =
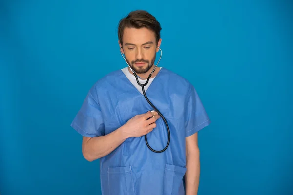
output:
[[[170, 145], [163, 153], [148, 149], [145, 137], [130, 137], [100, 158], [102, 195], [184, 195], [185, 138], [209, 125], [200, 98], [185, 78], [162, 68], [146, 91], [148, 99], [166, 118]], [[85, 137], [115, 131], [135, 115], [153, 110], [121, 71], [98, 80], [89, 90], [71, 126]], [[149, 145], [162, 150], [167, 128], [162, 118], [147, 134]]]

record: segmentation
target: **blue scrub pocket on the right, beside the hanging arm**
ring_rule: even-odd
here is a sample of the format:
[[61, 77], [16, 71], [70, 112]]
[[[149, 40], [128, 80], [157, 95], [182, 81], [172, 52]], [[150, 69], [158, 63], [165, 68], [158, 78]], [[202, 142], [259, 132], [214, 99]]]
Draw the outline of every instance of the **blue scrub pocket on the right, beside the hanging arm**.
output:
[[183, 176], [185, 167], [166, 164], [164, 173], [164, 195], [184, 194]]

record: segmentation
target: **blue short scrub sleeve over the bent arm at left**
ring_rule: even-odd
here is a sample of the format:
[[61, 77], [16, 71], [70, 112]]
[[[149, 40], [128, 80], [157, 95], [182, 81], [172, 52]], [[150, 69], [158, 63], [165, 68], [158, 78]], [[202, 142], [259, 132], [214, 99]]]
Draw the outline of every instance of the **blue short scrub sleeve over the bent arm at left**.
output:
[[105, 135], [104, 120], [94, 88], [89, 90], [70, 126], [85, 137]]

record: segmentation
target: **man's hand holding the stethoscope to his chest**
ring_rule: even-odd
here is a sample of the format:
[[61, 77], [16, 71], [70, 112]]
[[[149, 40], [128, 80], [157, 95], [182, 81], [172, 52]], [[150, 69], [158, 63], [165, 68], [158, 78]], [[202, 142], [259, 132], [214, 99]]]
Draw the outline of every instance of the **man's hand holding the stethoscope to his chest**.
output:
[[155, 122], [159, 118], [160, 116], [157, 112], [150, 111], [145, 114], [136, 115], [123, 125], [123, 133], [126, 138], [144, 136], [156, 127]]

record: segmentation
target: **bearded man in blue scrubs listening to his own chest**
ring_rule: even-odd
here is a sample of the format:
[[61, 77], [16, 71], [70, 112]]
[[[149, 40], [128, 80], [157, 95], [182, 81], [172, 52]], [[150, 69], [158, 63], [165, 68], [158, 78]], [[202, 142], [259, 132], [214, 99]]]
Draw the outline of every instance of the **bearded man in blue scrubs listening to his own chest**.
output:
[[[141, 83], [146, 82], [161, 45], [160, 23], [138, 10], [120, 20], [119, 47]], [[125, 61], [124, 61], [125, 62]], [[120, 62], [119, 62], [120, 63]], [[192, 84], [157, 67], [143, 95], [126, 66], [98, 80], [71, 126], [83, 136], [88, 161], [100, 159], [102, 195], [196, 195], [200, 161], [197, 132], [210, 120]]]

